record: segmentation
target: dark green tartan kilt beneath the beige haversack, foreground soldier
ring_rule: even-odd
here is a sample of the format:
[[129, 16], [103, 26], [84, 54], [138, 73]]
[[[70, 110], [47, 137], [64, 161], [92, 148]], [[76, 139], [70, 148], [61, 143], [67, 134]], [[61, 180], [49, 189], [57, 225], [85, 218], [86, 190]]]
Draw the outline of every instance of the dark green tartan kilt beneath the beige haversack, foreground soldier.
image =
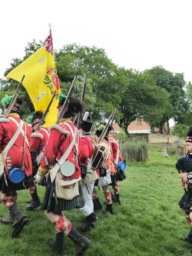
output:
[[73, 208], [82, 208], [85, 205], [83, 190], [81, 185], [82, 180], [78, 182], [79, 186], [79, 196], [74, 197], [72, 200], [61, 199], [57, 197], [57, 204], [55, 197], [53, 197], [53, 187], [54, 185], [51, 183], [51, 178], [48, 176], [46, 192], [44, 196], [44, 200], [41, 204], [41, 210], [47, 210], [47, 212], [61, 212], [68, 211]]

